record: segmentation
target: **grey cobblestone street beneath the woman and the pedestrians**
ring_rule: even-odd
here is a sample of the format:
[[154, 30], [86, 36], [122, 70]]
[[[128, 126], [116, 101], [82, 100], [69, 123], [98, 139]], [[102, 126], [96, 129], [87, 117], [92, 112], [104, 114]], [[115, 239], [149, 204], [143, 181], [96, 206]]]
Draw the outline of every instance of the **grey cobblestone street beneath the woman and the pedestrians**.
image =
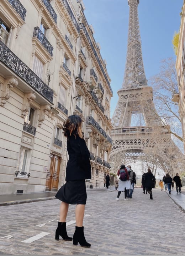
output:
[[[61, 237], [55, 241], [59, 200], [1, 206], [0, 254], [185, 255], [185, 213], [165, 191], [154, 189], [153, 200], [142, 192], [134, 188], [132, 199], [124, 201], [121, 193], [116, 201], [117, 191], [88, 191], [84, 233], [90, 248]], [[74, 210], [70, 205], [69, 236], [75, 230]]]

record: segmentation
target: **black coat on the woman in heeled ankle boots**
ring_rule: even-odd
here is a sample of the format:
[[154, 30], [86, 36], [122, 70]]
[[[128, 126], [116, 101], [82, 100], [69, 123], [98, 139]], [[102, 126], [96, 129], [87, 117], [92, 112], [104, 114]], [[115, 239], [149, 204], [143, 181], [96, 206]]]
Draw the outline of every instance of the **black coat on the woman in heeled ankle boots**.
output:
[[67, 140], [69, 160], [66, 167], [66, 181], [91, 179], [90, 153], [85, 140], [72, 134]]

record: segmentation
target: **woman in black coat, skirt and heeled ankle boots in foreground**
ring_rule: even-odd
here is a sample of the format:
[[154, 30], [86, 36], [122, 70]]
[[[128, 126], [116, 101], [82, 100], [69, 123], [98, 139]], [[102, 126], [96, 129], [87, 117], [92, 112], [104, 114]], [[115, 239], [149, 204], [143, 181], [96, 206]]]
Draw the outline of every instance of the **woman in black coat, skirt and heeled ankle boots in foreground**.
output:
[[[78, 242], [83, 247], [90, 247], [84, 236], [83, 218], [87, 199], [85, 179], [91, 179], [90, 153], [86, 146], [83, 132], [82, 119], [79, 115], [70, 115], [64, 123], [64, 136], [67, 137], [67, 151], [69, 160], [66, 167], [66, 183], [59, 189], [56, 198], [62, 201], [60, 205], [60, 220], [56, 230], [55, 239], [59, 236], [65, 241]], [[72, 237], [66, 231], [66, 217], [69, 204], [76, 205], [76, 227]]]

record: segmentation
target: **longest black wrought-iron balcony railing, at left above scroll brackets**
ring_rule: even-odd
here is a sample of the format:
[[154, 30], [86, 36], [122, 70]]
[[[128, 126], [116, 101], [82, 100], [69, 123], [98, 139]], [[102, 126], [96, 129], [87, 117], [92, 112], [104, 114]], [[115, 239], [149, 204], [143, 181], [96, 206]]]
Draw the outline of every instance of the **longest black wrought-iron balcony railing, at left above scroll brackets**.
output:
[[53, 102], [53, 91], [30, 68], [26, 66], [5, 44], [0, 41], [0, 60], [18, 74], [35, 90]]

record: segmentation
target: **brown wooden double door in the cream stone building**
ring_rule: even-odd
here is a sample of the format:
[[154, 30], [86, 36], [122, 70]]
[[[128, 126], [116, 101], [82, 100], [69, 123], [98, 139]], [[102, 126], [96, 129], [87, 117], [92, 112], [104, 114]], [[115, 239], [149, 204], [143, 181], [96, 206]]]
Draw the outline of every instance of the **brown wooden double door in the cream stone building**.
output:
[[60, 157], [50, 154], [47, 176], [46, 176], [46, 190], [57, 191], [60, 172]]

